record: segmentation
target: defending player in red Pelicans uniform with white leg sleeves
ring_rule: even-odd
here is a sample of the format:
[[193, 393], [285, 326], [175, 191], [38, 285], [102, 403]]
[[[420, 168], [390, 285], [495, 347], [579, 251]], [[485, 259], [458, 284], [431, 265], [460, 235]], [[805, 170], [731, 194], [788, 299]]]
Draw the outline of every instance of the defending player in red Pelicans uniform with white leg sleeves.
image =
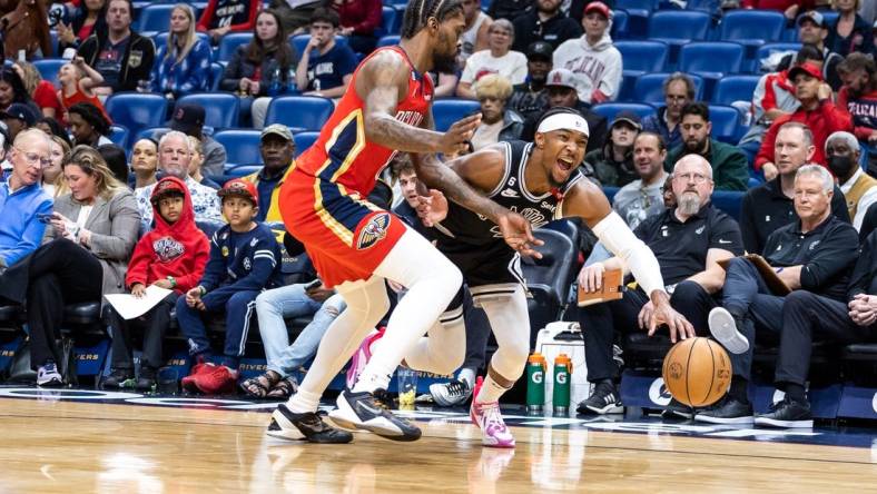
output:
[[393, 154], [410, 152], [418, 179], [454, 202], [500, 226], [505, 241], [524, 255], [535, 240], [520, 215], [486, 199], [436, 158], [467, 141], [480, 117], [433, 128], [433, 83], [428, 70], [449, 70], [465, 29], [460, 0], [412, 0], [405, 11], [400, 47], [381, 48], [353, 75], [349, 90], [312, 148], [296, 161], [280, 189], [280, 210], [289, 233], [300, 240], [327, 286], [347, 303], [324, 335], [298, 392], [272, 415], [268, 435], [315, 443], [346, 443], [353, 436], [316, 414], [319, 397], [367, 333], [386, 314], [385, 279], [407, 295], [390, 318], [382, 349], [372, 355], [354, 389], [338, 397], [345, 427], [372, 431], [396, 441], [414, 441], [421, 431], [375, 399], [405, 353], [447, 307], [462, 275], [426, 239], [391, 213], [367, 200]]

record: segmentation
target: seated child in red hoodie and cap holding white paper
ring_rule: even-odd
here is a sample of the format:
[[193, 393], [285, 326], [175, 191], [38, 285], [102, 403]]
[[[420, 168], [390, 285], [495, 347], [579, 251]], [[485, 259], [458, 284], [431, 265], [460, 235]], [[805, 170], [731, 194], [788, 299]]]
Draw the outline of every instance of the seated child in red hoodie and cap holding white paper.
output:
[[135, 319], [125, 320], [116, 310], [110, 310], [112, 364], [104, 387], [130, 385], [134, 378], [131, 330], [135, 328], [144, 332], [144, 354], [140, 377], [134, 387], [150, 389], [155, 385], [156, 369], [164, 362], [161, 344], [170, 322], [170, 310], [181, 294], [198, 284], [210, 255], [207, 236], [195, 225], [191, 197], [183, 180], [162, 178], [152, 189], [149, 200], [157, 213], [154, 215], [156, 227], [137, 243], [125, 285], [135, 297], [141, 297], [149, 285], [174, 292]]

